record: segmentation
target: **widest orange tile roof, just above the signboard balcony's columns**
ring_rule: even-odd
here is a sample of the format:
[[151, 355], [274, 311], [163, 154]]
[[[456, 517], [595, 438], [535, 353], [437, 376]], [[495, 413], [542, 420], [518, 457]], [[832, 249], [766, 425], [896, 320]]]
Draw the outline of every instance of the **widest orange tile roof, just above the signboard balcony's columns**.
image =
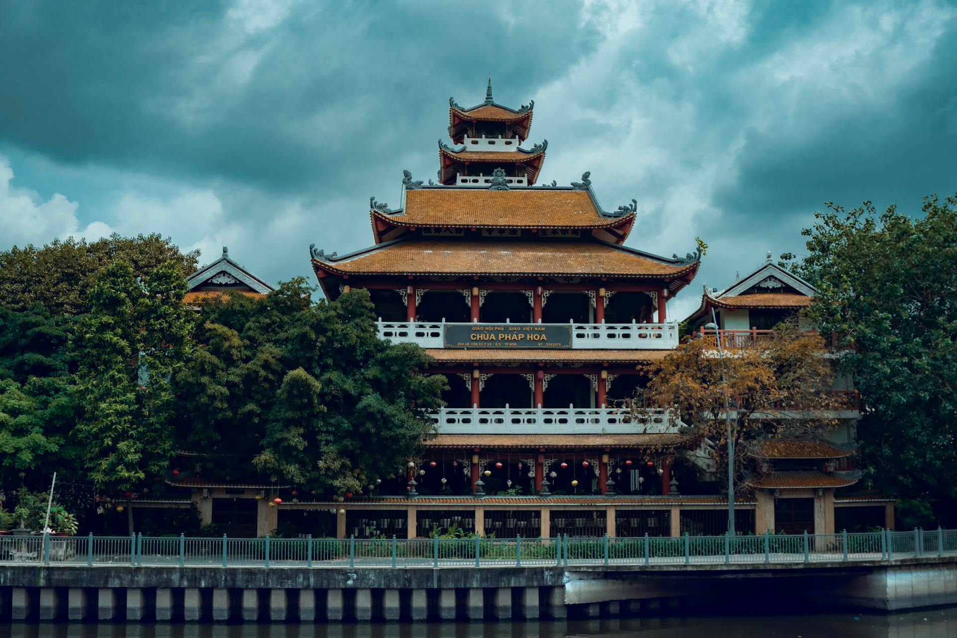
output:
[[333, 260], [313, 259], [340, 275], [615, 276], [674, 278], [698, 262], [663, 263], [599, 241], [396, 240]]

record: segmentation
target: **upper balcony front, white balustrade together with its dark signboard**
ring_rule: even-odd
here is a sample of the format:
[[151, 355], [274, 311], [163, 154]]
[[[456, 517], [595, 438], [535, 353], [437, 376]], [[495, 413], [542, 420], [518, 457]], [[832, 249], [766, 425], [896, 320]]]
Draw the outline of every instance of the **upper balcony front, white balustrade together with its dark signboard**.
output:
[[670, 350], [678, 322], [666, 323], [456, 323], [376, 322], [379, 337], [423, 348]]

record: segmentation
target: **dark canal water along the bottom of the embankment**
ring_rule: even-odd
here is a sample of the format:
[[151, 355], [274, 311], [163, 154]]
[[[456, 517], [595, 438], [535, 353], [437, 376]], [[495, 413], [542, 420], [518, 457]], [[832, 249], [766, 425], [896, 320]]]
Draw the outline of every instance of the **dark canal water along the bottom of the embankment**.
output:
[[0, 624], [0, 638], [957, 638], [957, 607], [900, 614], [340, 625]]

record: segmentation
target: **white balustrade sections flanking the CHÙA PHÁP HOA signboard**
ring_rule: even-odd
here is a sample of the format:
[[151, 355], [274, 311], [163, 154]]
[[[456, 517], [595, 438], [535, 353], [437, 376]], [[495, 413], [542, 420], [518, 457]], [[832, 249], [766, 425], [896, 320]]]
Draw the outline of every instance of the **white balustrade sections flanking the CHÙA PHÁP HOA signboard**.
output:
[[[417, 343], [423, 348], [444, 347], [445, 321], [377, 321], [379, 337], [393, 343]], [[482, 323], [482, 325], [489, 325]], [[505, 324], [502, 324], [505, 325]], [[537, 324], [545, 325], [545, 324]], [[568, 325], [568, 324], [561, 324]], [[678, 345], [678, 322], [571, 323], [571, 347], [591, 350], [671, 350]], [[529, 348], [526, 348], [529, 349]], [[535, 349], [535, 348], [530, 348]]]

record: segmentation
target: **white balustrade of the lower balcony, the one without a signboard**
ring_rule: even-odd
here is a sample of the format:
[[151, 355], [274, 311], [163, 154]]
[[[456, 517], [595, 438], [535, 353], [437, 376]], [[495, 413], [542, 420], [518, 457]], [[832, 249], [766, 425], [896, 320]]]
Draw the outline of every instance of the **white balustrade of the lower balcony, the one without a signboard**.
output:
[[633, 415], [614, 407], [442, 407], [439, 434], [672, 434], [684, 424], [666, 409]]

